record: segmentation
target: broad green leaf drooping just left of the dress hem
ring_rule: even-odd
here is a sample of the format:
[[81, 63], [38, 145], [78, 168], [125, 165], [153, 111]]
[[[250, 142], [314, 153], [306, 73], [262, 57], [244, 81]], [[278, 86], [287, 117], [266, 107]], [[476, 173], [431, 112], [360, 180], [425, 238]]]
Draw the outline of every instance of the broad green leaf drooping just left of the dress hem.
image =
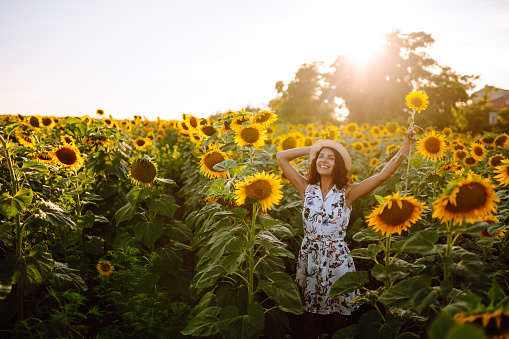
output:
[[284, 307], [284, 311], [302, 314], [300, 292], [292, 277], [284, 272], [273, 272], [269, 281], [260, 280], [260, 287], [270, 299]]

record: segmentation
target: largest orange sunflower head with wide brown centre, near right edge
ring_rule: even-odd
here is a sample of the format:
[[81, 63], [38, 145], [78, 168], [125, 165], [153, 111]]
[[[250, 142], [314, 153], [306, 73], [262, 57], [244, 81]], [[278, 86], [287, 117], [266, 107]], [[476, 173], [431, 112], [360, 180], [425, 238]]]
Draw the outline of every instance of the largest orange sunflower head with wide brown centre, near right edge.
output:
[[500, 199], [488, 178], [469, 174], [449, 183], [442, 197], [433, 202], [433, 218], [442, 223], [453, 220], [460, 226], [463, 220], [475, 223], [497, 209]]

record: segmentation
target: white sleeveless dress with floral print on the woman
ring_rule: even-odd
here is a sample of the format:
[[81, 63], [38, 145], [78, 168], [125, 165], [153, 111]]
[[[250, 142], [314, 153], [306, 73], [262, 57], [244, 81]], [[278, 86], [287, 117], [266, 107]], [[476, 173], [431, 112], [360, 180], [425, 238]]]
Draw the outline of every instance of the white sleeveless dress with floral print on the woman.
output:
[[347, 272], [355, 271], [344, 241], [350, 220], [345, 189], [336, 185], [322, 199], [320, 183], [308, 185], [304, 195], [302, 219], [304, 239], [297, 262], [296, 282], [304, 296], [304, 310], [311, 313], [339, 312], [350, 315], [358, 308], [348, 303], [358, 291], [329, 298], [331, 286]]

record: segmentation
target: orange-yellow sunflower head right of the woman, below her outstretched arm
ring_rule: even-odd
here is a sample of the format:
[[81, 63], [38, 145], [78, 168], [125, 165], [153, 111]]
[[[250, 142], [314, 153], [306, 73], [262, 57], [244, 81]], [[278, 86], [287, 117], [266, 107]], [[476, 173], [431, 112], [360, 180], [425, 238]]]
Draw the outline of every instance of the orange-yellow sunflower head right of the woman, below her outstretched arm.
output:
[[400, 197], [399, 192], [384, 199], [385, 203], [378, 205], [366, 218], [368, 226], [373, 226], [374, 231], [381, 231], [387, 237], [406, 231], [411, 224], [421, 219], [421, 213], [426, 207], [425, 203], [414, 197]]

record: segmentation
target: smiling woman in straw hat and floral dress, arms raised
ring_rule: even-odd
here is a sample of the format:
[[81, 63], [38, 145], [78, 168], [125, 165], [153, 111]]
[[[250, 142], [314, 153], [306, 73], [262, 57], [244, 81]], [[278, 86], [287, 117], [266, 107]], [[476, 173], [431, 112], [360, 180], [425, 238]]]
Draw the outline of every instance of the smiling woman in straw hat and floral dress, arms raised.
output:
[[[414, 132], [411, 128], [407, 134]], [[412, 145], [413, 146], [413, 145]], [[277, 153], [283, 174], [297, 189], [304, 206], [304, 239], [297, 263], [296, 282], [304, 295], [304, 337], [319, 336], [322, 319], [327, 316], [332, 336], [346, 324], [346, 317], [357, 306], [349, 304], [356, 293], [329, 298], [331, 286], [347, 272], [355, 271], [353, 259], [344, 241], [352, 203], [368, 194], [396, 171], [410, 151], [405, 137], [403, 147], [380, 173], [350, 184], [352, 161], [347, 150], [333, 140], [320, 140], [313, 146]], [[308, 178], [291, 164], [295, 158], [310, 155]]]

